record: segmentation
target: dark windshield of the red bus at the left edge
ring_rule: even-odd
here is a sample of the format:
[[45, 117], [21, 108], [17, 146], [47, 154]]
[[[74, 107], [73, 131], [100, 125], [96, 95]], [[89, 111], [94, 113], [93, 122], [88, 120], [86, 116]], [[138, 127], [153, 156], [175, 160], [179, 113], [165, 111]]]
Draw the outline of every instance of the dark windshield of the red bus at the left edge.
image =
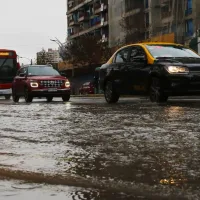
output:
[[13, 58], [0, 58], [0, 78], [14, 77], [16, 64]]

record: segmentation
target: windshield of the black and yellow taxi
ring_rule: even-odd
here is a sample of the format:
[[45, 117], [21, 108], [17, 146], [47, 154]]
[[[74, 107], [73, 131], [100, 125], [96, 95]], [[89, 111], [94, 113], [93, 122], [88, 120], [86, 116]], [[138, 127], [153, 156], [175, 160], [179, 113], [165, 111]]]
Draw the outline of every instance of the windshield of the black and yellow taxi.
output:
[[162, 57], [200, 58], [198, 54], [183, 46], [158, 44], [158, 45], [146, 45], [146, 47], [154, 58], [162, 58]]

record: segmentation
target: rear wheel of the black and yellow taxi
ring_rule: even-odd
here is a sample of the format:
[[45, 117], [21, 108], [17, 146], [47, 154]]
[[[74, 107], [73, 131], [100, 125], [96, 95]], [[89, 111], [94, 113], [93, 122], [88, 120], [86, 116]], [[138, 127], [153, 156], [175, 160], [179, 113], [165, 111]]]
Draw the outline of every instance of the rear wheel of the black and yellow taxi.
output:
[[113, 83], [111, 81], [106, 82], [104, 96], [107, 103], [116, 103], [119, 100], [119, 95], [115, 92]]

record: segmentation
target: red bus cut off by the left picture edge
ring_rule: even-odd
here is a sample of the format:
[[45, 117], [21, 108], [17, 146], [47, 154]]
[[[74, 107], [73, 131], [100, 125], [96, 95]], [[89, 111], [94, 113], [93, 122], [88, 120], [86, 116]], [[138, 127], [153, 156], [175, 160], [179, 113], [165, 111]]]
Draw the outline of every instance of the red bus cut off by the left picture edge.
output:
[[16, 51], [0, 49], [0, 96], [7, 100], [11, 98], [12, 81], [19, 68]]

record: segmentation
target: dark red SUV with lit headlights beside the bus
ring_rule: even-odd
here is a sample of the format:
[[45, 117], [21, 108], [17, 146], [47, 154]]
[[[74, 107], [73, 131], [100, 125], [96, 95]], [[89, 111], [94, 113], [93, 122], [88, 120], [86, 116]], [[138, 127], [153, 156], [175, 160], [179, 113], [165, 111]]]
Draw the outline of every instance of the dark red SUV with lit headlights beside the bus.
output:
[[53, 67], [47, 65], [28, 65], [17, 72], [12, 83], [12, 97], [18, 102], [21, 96], [26, 102], [32, 102], [34, 97], [62, 97], [63, 101], [70, 99], [70, 82], [61, 76]]

